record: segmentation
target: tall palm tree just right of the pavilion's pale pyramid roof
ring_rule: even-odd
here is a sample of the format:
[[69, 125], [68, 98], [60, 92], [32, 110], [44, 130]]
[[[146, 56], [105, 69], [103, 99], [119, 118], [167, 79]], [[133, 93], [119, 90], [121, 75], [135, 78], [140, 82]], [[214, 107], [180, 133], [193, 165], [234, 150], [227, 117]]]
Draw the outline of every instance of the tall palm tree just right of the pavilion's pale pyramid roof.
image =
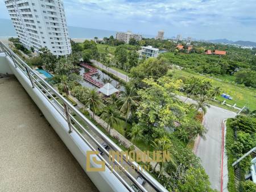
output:
[[120, 111], [125, 116], [125, 131], [127, 129], [129, 115], [137, 109], [138, 99], [139, 96], [134, 86], [126, 85], [125, 90], [121, 91], [121, 98], [119, 98], [118, 102], [121, 105]]

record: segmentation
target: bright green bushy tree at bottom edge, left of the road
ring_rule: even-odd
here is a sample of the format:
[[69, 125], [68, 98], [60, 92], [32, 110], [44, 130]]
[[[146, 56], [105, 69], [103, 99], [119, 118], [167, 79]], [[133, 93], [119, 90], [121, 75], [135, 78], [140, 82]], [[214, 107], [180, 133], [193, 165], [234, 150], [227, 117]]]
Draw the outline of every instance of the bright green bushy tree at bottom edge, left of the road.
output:
[[189, 168], [185, 173], [184, 181], [178, 181], [179, 191], [212, 191], [210, 189], [209, 177], [202, 168]]

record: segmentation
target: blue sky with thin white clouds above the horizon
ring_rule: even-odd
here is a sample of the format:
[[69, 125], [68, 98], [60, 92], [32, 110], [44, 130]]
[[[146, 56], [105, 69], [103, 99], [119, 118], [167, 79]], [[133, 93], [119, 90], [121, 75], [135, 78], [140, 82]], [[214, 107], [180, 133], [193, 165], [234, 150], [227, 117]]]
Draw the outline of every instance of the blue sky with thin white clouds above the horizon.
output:
[[[256, 41], [255, 0], [63, 0], [68, 26]], [[9, 19], [3, 1], [0, 18]]]

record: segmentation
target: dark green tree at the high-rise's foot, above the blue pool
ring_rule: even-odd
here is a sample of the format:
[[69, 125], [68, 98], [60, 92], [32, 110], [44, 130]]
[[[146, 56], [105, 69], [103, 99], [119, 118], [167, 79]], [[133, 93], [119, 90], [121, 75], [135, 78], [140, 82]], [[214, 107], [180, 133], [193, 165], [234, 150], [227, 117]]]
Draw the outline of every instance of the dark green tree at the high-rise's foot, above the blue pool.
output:
[[56, 64], [56, 56], [54, 56], [49, 49], [42, 48], [39, 50], [39, 55], [43, 60], [43, 65], [46, 67], [47, 70], [53, 71], [55, 69]]

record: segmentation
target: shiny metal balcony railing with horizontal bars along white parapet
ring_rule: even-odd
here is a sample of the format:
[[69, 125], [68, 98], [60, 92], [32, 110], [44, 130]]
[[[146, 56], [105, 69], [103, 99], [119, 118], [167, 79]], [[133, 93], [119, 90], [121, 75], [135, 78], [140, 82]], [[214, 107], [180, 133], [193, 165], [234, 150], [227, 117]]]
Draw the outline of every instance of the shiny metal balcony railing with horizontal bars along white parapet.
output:
[[[57, 112], [65, 119], [68, 124], [69, 133], [75, 131], [77, 135], [81, 137], [81, 139], [90, 147], [92, 151], [97, 151], [97, 148], [100, 148], [105, 155], [111, 158], [112, 156], [109, 152], [98, 142], [98, 140], [93, 136], [90, 132], [96, 133], [98, 137], [105, 141], [113, 151], [121, 153], [121, 149], [109, 139], [103, 132], [99, 130], [89, 119], [87, 119], [77, 108], [75, 108], [71, 103], [69, 103], [59, 92], [57, 92], [51, 85], [48, 84], [43, 78], [39, 76], [33, 69], [30, 68], [23, 60], [21, 60], [10, 48], [6, 47], [0, 41], [0, 49], [2, 52], [5, 52], [6, 56], [9, 56], [15, 65], [15, 68], [19, 68], [24, 75], [31, 82], [31, 89], [38, 89], [40, 93], [44, 95], [44, 97], [48, 100], [48, 102], [56, 109]], [[54, 102], [53, 102], [54, 101]], [[79, 117], [82, 121], [82, 124], [86, 124], [86, 127], [82, 126], [81, 121], [79, 122], [76, 118], [74, 118], [74, 114]], [[89, 128], [89, 129], [88, 129]], [[97, 146], [97, 147], [93, 147]], [[101, 161], [105, 162], [105, 165], [113, 171], [115, 177], [126, 187], [129, 191], [134, 191], [129, 183], [133, 183], [138, 187], [141, 191], [148, 191], [142, 186], [129, 171], [127, 171], [118, 161], [114, 161], [114, 165], [119, 168], [123, 168], [122, 176], [111, 168], [109, 162], [102, 155], [97, 155]], [[131, 167], [132, 170], [135, 169], [135, 172], [138, 176], [142, 177], [150, 186], [149, 191], [167, 191], [158, 181], [156, 181], [150, 174], [142, 171], [141, 166], [139, 166], [136, 162], [127, 160], [126, 155], [120, 156], [123, 159], [123, 162], [126, 162], [127, 165]]]

